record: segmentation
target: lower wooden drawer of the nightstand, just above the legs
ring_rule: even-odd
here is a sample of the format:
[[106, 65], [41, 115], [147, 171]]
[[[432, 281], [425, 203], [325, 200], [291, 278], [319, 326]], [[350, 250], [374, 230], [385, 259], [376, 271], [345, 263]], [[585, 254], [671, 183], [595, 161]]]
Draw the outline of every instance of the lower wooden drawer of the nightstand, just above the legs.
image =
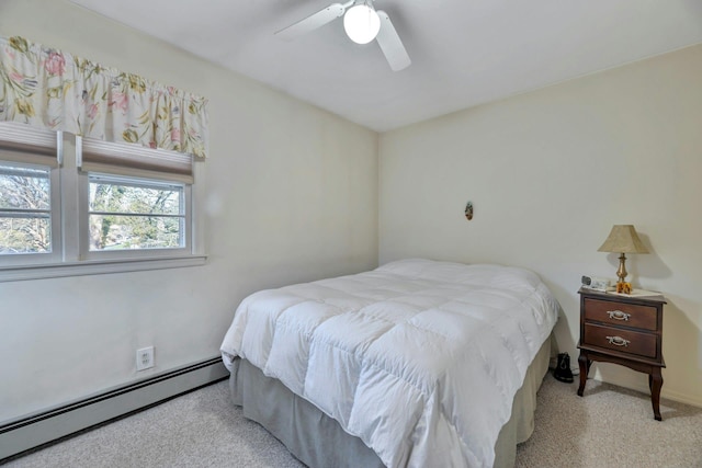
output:
[[650, 333], [586, 323], [582, 344], [656, 358], [656, 340], [657, 336]]

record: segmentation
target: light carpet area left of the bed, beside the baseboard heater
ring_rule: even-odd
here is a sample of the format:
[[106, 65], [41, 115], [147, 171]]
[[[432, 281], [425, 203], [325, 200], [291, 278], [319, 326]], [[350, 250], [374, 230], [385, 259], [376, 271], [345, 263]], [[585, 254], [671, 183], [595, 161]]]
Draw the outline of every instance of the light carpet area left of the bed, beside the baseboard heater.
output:
[[[7, 465], [26, 468], [299, 468], [287, 449], [244, 418], [220, 381]], [[4, 468], [4, 467], [3, 467]]]

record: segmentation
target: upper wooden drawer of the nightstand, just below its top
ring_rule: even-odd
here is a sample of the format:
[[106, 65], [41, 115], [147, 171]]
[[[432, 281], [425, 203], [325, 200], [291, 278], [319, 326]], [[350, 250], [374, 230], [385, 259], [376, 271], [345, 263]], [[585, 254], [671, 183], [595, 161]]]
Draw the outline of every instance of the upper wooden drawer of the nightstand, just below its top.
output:
[[655, 331], [658, 323], [655, 307], [585, 298], [585, 319]]

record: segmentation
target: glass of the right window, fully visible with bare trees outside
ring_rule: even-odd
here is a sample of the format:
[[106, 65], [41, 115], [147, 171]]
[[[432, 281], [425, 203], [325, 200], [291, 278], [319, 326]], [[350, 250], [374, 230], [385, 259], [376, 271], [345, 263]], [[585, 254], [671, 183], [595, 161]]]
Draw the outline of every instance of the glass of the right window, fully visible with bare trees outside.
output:
[[90, 250], [185, 246], [183, 186], [90, 178]]

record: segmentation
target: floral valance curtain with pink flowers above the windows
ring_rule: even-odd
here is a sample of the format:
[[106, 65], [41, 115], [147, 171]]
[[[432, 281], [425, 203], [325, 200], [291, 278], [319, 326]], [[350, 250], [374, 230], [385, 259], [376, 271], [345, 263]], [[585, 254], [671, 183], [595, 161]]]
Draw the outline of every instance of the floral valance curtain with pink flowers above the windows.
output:
[[207, 100], [14, 36], [0, 37], [0, 122], [207, 156]]

